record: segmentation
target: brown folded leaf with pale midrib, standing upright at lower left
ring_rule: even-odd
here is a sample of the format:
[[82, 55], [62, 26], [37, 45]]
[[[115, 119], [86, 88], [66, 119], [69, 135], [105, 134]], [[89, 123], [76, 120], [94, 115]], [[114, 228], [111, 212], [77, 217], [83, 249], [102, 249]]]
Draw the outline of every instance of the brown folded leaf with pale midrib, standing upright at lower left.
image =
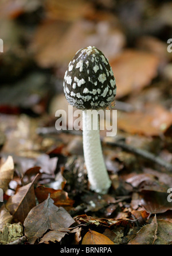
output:
[[38, 175], [33, 182], [19, 188], [17, 193], [7, 201], [6, 208], [13, 215], [14, 220], [24, 223], [29, 211], [36, 205], [34, 182], [36, 182], [37, 177]]

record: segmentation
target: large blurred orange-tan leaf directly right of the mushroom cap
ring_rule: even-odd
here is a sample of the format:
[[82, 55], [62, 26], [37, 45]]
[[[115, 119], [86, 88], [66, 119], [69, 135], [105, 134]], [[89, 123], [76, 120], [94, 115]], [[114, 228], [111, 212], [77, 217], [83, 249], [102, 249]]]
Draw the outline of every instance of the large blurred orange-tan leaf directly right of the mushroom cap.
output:
[[157, 75], [159, 59], [148, 52], [126, 49], [110, 62], [116, 78], [116, 98], [138, 93]]

